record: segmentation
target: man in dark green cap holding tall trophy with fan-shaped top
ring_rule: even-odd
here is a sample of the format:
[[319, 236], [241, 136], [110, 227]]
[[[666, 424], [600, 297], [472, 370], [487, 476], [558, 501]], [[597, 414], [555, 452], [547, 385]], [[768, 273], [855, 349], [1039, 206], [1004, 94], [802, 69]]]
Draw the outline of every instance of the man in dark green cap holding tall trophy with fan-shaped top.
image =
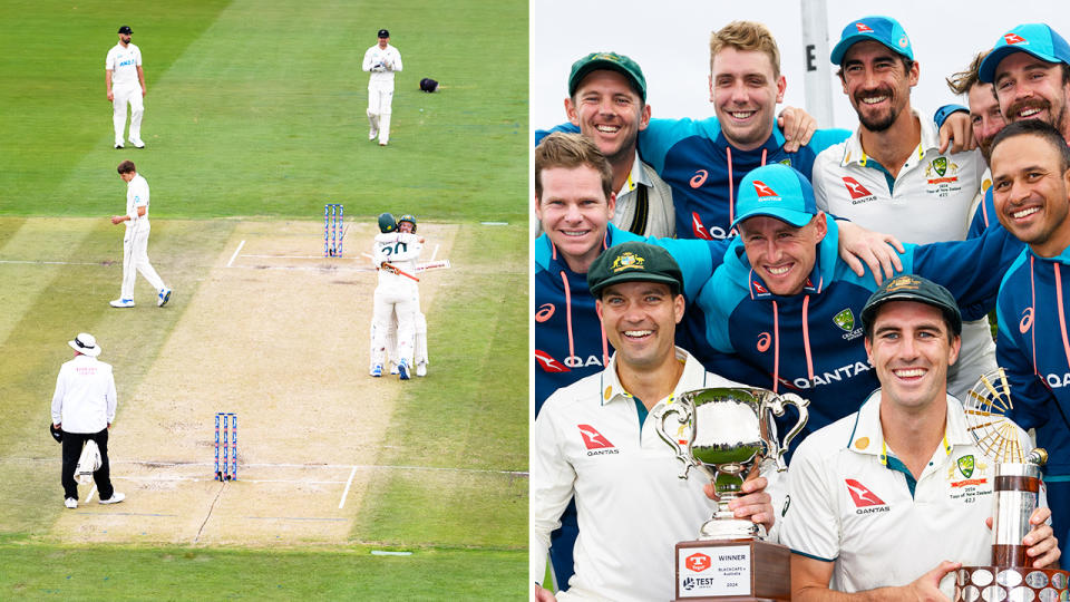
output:
[[[999, 488], [994, 460], [946, 391], [962, 315], [946, 289], [902, 275], [873, 293], [862, 323], [881, 388], [791, 459], [780, 541], [792, 552], [792, 600], [951, 599], [949, 572], [990, 564]], [[1028, 441], [1011, 428], [1013, 443]], [[1050, 516], [1029, 515], [1030, 566], [1059, 560]]]

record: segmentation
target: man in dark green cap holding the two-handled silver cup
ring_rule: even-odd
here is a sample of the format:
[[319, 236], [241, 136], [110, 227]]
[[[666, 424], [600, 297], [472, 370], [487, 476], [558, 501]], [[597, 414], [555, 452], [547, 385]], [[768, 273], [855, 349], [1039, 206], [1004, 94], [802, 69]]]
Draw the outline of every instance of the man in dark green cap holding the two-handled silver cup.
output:
[[[558, 600], [673, 598], [672, 550], [693, 540], [717, 509], [709, 479], [680, 465], [650, 412], [683, 394], [737, 383], [674, 346], [684, 313], [683, 276], [668, 251], [641, 242], [602, 252], [587, 272], [605, 336], [616, 350], [604, 371], [558, 389], [532, 431], [531, 572], [537, 600], [549, 533], [575, 496], [575, 575]], [[769, 530], [767, 480], [752, 477], [730, 507]]]

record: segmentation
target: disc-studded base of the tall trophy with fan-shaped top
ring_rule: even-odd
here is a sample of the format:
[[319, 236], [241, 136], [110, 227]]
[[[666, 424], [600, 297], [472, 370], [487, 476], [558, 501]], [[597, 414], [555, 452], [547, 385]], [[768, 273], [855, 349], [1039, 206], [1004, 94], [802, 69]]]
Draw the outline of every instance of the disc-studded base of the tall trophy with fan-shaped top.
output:
[[1037, 600], [1056, 602], [1070, 595], [1070, 573], [1029, 566], [963, 566], [955, 571], [954, 602]]

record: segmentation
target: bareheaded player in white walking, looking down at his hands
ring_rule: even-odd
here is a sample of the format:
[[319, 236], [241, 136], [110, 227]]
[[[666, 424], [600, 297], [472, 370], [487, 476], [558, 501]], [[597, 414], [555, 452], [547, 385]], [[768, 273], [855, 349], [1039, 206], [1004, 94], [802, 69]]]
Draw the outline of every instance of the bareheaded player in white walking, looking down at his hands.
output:
[[123, 236], [123, 290], [119, 298], [111, 301], [113, 308], [134, 307], [134, 279], [140, 272], [156, 290], [156, 304], [164, 307], [171, 300], [171, 289], [164, 284], [153, 264], [148, 262], [148, 182], [138, 175], [134, 162], [124, 161], [116, 168], [119, 177], [126, 182], [126, 215], [113, 215], [111, 223], [126, 222]]

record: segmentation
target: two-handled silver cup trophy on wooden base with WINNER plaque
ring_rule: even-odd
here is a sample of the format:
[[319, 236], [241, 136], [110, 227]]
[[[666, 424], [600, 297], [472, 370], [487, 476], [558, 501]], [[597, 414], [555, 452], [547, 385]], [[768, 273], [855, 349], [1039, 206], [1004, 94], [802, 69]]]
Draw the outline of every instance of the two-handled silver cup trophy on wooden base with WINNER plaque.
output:
[[[782, 416], [785, 405], [796, 406], [799, 419], [780, 443], [774, 416]], [[756, 465], [786, 469], [782, 455], [806, 426], [807, 405], [794, 394], [719, 388], [688, 391], [652, 412], [658, 435], [683, 463], [680, 478], [699, 469], [719, 498], [699, 538], [677, 544], [678, 601], [790, 600], [790, 551], [763, 541], [765, 527], [736, 518], [728, 504]]]

